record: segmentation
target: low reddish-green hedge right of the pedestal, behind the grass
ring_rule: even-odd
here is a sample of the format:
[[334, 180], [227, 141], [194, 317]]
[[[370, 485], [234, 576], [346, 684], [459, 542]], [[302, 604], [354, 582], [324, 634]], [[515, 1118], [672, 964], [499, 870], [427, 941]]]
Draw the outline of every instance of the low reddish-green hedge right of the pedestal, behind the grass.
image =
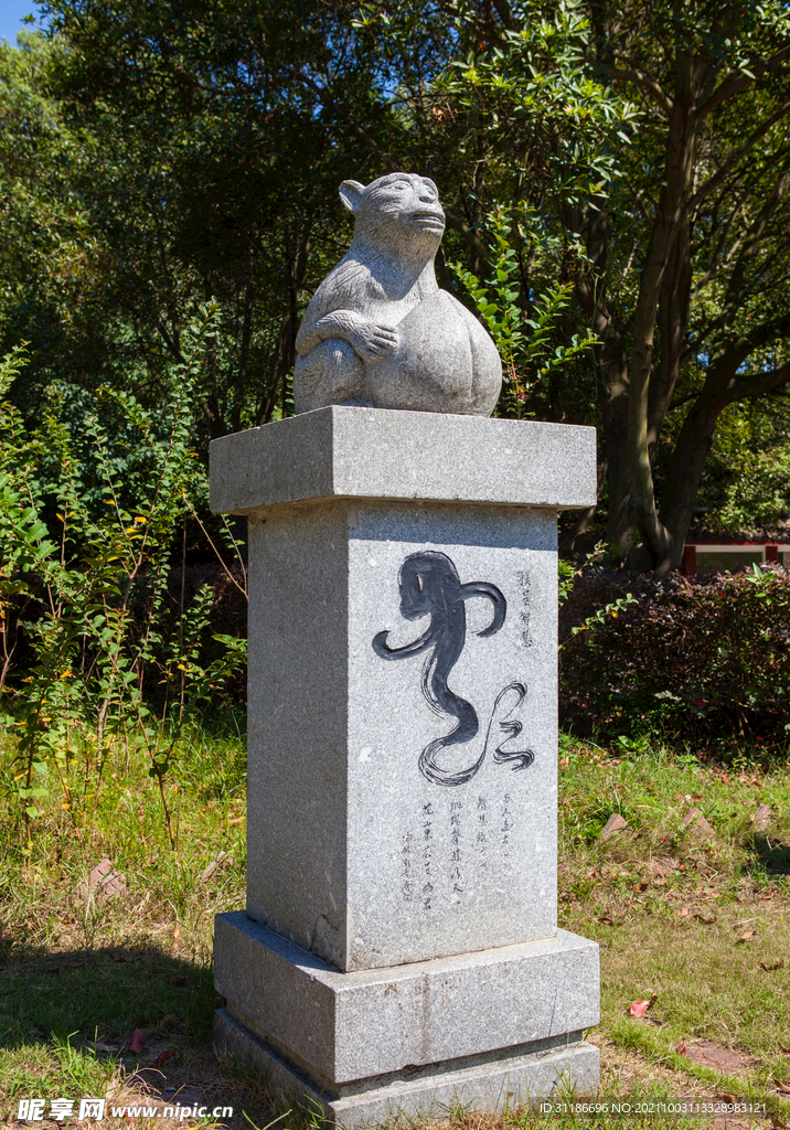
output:
[[[633, 601], [622, 600], [633, 593]], [[620, 600], [604, 617], [598, 609]], [[611, 740], [657, 730], [675, 740], [790, 737], [790, 573], [713, 580], [582, 572], [561, 614], [561, 712]]]

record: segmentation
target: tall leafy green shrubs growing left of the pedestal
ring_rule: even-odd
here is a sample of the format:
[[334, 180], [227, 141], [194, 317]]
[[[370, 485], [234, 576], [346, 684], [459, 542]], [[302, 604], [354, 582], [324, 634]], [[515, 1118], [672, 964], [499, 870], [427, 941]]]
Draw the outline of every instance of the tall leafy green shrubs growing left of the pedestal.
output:
[[[113, 459], [122, 443], [110, 440], [96, 412], [81, 421], [81, 435], [55, 412], [28, 431], [7, 399], [25, 358], [0, 362], [0, 731], [17, 739], [0, 784], [23, 843], [52, 781], [67, 810], [95, 807], [107, 757], [121, 746], [156, 779], [174, 844], [164, 779], [180, 731], [217, 704], [244, 664], [243, 635], [211, 625], [217, 586], [188, 586], [184, 568], [186, 522], [201, 524], [194, 499], [206, 492], [190, 442], [194, 373], [212, 329], [210, 311], [188, 328], [181, 395], [166, 412], [102, 390], [125, 424], [122, 434], [133, 437], [137, 466], [127, 483], [124, 463]], [[184, 553], [174, 577], [179, 533]], [[225, 533], [218, 558], [225, 550], [227, 581], [245, 593]], [[216, 545], [205, 527], [202, 534]]]

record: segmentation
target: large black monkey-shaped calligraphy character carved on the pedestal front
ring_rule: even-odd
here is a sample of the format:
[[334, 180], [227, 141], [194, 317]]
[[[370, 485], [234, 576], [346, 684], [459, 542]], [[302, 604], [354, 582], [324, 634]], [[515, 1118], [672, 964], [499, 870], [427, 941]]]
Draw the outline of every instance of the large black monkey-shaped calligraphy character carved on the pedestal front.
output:
[[[494, 719], [497, 716], [501, 701], [510, 690], [516, 690], [518, 699], [502, 714], [500, 729], [507, 734], [505, 742], [520, 733], [520, 722], [507, 722], [504, 719], [521, 702], [527, 690], [522, 684], [514, 683], [500, 693], [488, 725], [486, 744], [477, 760], [466, 768], [454, 772], [442, 768], [437, 764], [436, 758], [443, 749], [471, 741], [479, 730], [475, 707], [454, 694], [448, 686], [450, 672], [458, 662], [466, 643], [465, 601], [470, 597], [487, 597], [493, 605], [494, 615], [491, 624], [477, 633], [483, 638], [500, 631], [505, 621], [507, 602], [495, 584], [488, 584], [485, 581], [461, 584], [458, 571], [446, 554], [432, 549], [411, 554], [406, 558], [400, 567], [398, 585], [401, 615], [407, 620], [431, 616], [431, 621], [422, 636], [402, 647], [390, 647], [387, 643], [389, 632], [379, 632], [373, 638], [373, 650], [382, 659], [405, 659], [409, 655], [418, 655], [424, 651], [428, 652], [423, 666], [423, 694], [435, 714], [449, 714], [457, 720], [457, 725], [444, 738], [437, 738], [425, 747], [419, 755], [419, 771], [423, 776], [435, 784], [466, 784], [483, 765]], [[496, 762], [518, 760], [513, 768], [522, 768], [531, 764], [533, 757], [531, 751], [503, 751], [502, 746], [494, 754]]]

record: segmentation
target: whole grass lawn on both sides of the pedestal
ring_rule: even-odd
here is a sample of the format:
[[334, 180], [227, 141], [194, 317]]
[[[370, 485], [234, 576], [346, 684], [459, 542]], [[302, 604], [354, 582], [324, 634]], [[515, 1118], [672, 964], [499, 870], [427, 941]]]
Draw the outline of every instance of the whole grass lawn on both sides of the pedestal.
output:
[[[2, 773], [12, 774], [3, 756]], [[115, 1106], [145, 1104], [148, 1094], [159, 1105], [209, 1110], [182, 1125], [309, 1122], [211, 1050], [211, 923], [244, 903], [243, 765], [237, 737], [197, 732], [183, 744], [166, 785], [176, 851], [156, 782], [120, 749], [104, 766], [98, 797], [95, 774], [80, 788], [76, 762], [72, 808], [61, 807], [55, 783], [46, 782], [52, 799], [28, 851], [10, 809], [2, 812], [0, 1124], [15, 1123], [19, 1098], [105, 1094]], [[565, 739], [561, 781], [561, 924], [601, 947], [601, 1024], [588, 1037], [601, 1048], [599, 1102], [729, 1096], [767, 1112], [739, 1114], [730, 1127], [790, 1127], [787, 766], [744, 760], [724, 771], [688, 754], [607, 753]], [[755, 823], [761, 805], [771, 811]], [[709, 827], [684, 823], [691, 808]], [[602, 842], [613, 812], [627, 826]], [[77, 888], [105, 858], [124, 885], [112, 898], [86, 898]], [[651, 1005], [637, 1018], [630, 1007], [639, 1000]], [[233, 1116], [212, 1118], [222, 1106], [233, 1106]], [[140, 1114], [101, 1124], [165, 1130], [176, 1121]], [[549, 1130], [575, 1121], [455, 1111], [442, 1124]], [[693, 1124], [635, 1112], [578, 1121]]]

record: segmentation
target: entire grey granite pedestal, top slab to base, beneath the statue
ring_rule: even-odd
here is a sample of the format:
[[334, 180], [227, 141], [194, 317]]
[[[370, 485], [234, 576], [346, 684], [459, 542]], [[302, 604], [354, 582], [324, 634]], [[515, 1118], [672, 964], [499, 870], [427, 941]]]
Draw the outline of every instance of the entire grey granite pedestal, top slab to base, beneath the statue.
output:
[[362, 1124], [597, 1085], [557, 930], [556, 513], [591, 428], [331, 407], [211, 445], [250, 522], [248, 907], [217, 1042]]

